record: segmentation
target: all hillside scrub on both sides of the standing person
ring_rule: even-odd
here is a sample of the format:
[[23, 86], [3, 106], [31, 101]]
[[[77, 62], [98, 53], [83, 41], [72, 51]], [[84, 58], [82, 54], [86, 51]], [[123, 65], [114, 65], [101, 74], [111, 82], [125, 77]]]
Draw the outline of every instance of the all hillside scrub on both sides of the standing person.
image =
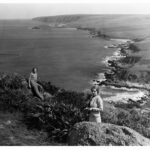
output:
[[[51, 85], [50, 82], [41, 81], [40, 83], [46, 91], [53, 95], [53, 97], [41, 101], [27, 89], [27, 83], [23, 79], [16, 74], [1, 75], [1, 111], [21, 112], [23, 114], [22, 121], [29, 129], [46, 131], [48, 140], [66, 143], [68, 132], [72, 126], [88, 119], [88, 113], [84, 111], [88, 100], [84, 94], [66, 91]], [[130, 127], [150, 138], [150, 115], [143, 116], [133, 108], [137, 107], [134, 105], [130, 105], [130, 107], [108, 105], [108, 103], [104, 103], [104, 105], [103, 122]]]

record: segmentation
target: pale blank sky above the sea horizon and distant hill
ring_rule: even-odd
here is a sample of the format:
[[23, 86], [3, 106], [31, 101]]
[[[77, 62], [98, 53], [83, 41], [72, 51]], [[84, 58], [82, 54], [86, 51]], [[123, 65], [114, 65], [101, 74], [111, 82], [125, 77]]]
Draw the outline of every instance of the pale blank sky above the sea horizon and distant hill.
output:
[[[48, 3], [40, 1], [18, 1], [17, 3], [4, 3], [0, 1], [0, 19], [28, 19], [38, 16], [54, 16], [64, 14], [150, 14], [150, 3], [137, 2], [107, 2], [71, 1]], [[106, 3], [107, 2], [107, 3]]]

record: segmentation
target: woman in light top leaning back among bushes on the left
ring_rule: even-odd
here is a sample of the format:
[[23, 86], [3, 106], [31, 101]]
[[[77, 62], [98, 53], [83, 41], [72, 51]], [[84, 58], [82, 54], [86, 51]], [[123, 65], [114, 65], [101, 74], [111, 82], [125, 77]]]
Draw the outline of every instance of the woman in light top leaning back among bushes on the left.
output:
[[39, 91], [39, 89], [43, 91], [43, 87], [37, 83], [37, 78], [37, 68], [33, 68], [29, 76], [29, 88], [32, 88], [37, 97], [44, 100], [43, 94]]

